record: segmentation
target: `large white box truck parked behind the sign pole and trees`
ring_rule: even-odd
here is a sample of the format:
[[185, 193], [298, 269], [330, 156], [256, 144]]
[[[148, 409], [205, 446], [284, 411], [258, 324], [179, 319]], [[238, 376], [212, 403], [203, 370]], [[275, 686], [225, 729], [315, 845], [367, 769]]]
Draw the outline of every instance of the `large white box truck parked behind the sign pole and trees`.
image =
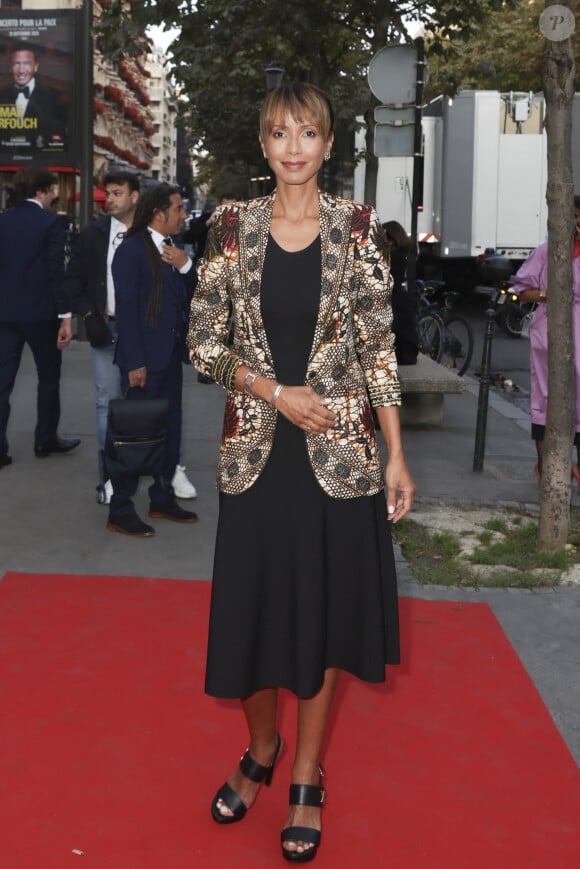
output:
[[[486, 252], [512, 270], [547, 232], [543, 94], [462, 91], [423, 110], [423, 209], [418, 215], [420, 268], [457, 289], [481, 281]], [[573, 163], [580, 191], [580, 94], [573, 110]], [[381, 221], [411, 227], [412, 157], [381, 157]], [[355, 198], [364, 199], [364, 173]], [[572, 206], [571, 206], [572, 207]], [[497, 259], [496, 259], [497, 261]]]

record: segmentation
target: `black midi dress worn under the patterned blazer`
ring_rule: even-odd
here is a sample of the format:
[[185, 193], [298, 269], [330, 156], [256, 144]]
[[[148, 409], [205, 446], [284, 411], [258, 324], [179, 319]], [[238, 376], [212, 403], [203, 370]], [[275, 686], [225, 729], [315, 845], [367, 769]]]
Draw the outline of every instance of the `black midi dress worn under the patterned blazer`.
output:
[[[298, 252], [268, 240], [261, 309], [276, 379], [305, 382], [320, 301], [317, 238]], [[206, 691], [286, 688], [307, 698], [337, 667], [368, 682], [399, 660], [397, 588], [383, 492], [331, 498], [302, 429], [278, 414], [256, 482], [220, 493]]]

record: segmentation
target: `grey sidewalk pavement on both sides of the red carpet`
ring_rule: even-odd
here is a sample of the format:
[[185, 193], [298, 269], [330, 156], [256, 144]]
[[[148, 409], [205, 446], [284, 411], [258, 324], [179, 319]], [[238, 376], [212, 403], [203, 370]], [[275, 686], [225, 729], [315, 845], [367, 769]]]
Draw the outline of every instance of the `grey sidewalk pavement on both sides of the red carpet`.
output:
[[[105, 528], [95, 500], [96, 439], [90, 348], [73, 342], [64, 354], [61, 435], [82, 438], [65, 456], [33, 455], [36, 373], [25, 351], [8, 429], [13, 464], [0, 470], [0, 576], [6, 571], [209, 579], [218, 499], [215, 465], [223, 390], [184, 370], [183, 462], [198, 497], [197, 525], [156, 522], [154, 538], [133, 540]], [[405, 429], [418, 498], [446, 504], [525, 504], [537, 508], [535, 449], [527, 414], [492, 394], [484, 470], [474, 473], [478, 385], [445, 399], [439, 428]], [[580, 496], [573, 493], [573, 504]], [[146, 517], [147, 481], [136, 498]], [[400, 592], [430, 600], [488, 604], [534, 681], [556, 726], [580, 763], [580, 589], [481, 591], [420, 586], [398, 554]]]

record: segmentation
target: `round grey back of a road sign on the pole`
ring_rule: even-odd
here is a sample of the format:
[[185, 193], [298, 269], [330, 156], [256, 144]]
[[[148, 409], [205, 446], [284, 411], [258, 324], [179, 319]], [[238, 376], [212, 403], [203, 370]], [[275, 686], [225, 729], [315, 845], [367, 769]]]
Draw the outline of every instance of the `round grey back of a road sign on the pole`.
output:
[[414, 45], [385, 45], [369, 64], [369, 87], [385, 105], [415, 103], [417, 49]]

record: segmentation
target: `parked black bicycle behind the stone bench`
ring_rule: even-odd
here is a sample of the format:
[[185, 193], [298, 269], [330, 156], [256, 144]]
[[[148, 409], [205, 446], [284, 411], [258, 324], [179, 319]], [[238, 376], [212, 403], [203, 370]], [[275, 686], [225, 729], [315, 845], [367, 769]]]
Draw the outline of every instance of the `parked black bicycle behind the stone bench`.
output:
[[452, 312], [459, 293], [446, 290], [443, 281], [417, 281], [417, 289], [419, 349], [461, 377], [473, 355], [473, 331]]

